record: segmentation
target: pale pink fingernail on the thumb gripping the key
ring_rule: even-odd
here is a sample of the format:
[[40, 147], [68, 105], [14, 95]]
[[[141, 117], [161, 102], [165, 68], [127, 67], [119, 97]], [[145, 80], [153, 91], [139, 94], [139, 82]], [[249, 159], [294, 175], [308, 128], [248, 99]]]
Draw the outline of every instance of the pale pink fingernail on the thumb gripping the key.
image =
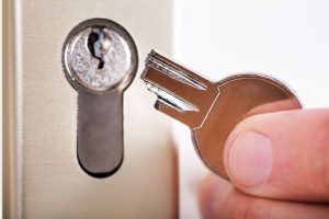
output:
[[240, 134], [229, 151], [229, 171], [234, 180], [245, 186], [257, 186], [268, 181], [272, 172], [271, 139], [262, 134]]

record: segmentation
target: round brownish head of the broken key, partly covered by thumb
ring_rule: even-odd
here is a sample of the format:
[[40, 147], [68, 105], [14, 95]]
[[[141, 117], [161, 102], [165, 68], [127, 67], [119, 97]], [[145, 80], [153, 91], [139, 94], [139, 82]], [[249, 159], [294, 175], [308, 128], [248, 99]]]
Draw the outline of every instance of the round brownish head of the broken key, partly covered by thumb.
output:
[[219, 96], [202, 128], [192, 130], [204, 163], [228, 180], [223, 152], [226, 139], [242, 119], [262, 113], [302, 108], [296, 95], [282, 82], [261, 74], [237, 74], [217, 83]]

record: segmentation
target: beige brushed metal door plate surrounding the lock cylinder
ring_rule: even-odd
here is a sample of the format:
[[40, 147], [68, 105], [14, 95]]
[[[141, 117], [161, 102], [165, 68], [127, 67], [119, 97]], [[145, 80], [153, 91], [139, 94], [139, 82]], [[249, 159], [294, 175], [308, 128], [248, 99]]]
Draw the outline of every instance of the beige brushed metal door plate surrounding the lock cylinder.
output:
[[172, 2], [4, 3], [3, 218], [177, 218], [170, 123], [148, 107], [144, 83], [135, 80], [124, 92], [125, 161], [113, 176], [95, 178], [78, 163], [78, 93], [61, 66], [67, 34], [93, 18], [122, 24], [140, 57], [152, 46], [171, 53]]

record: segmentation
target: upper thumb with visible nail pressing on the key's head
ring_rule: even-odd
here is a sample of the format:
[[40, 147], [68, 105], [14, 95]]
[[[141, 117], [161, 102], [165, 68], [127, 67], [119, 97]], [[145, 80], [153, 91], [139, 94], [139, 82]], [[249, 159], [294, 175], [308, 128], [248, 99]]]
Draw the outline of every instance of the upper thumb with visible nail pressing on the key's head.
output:
[[261, 114], [230, 134], [224, 163], [232, 183], [260, 197], [329, 200], [329, 110]]

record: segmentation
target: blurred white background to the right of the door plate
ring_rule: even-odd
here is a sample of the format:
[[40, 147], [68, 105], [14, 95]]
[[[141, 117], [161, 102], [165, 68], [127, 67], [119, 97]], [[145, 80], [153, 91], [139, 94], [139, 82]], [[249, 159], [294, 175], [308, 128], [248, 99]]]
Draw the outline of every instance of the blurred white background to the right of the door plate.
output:
[[[217, 81], [263, 72], [286, 82], [305, 107], [329, 106], [329, 1], [174, 1], [174, 58]], [[173, 122], [180, 157], [180, 218], [200, 218], [208, 171], [190, 131]]]

